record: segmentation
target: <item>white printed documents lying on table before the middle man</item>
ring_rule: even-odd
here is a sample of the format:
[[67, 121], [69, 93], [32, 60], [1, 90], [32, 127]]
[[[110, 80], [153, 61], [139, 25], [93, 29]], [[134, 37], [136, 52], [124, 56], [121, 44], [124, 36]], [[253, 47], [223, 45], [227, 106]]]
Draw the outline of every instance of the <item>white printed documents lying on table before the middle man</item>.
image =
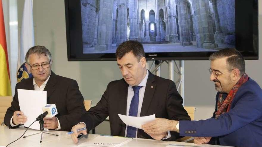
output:
[[131, 141], [132, 139], [133, 138], [99, 135], [92, 140], [88, 140], [85, 143], [79, 144], [78, 146], [118, 147], [118, 146], [121, 146], [121, 145]]

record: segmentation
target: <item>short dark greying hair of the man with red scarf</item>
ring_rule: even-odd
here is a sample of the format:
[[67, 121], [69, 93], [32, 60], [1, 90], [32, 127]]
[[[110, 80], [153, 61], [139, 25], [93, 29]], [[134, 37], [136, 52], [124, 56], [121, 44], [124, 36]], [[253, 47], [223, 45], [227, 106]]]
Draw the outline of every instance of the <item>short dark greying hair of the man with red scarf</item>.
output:
[[239, 69], [240, 76], [245, 73], [245, 60], [241, 53], [234, 48], [225, 48], [210, 55], [209, 60], [227, 57], [227, 69]]

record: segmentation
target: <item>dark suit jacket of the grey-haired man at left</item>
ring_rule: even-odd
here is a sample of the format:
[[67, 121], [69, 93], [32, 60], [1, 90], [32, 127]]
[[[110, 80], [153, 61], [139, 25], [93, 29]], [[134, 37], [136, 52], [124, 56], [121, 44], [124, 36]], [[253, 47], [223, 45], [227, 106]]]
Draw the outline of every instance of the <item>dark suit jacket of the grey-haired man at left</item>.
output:
[[[17, 89], [34, 90], [33, 77], [22, 80], [15, 86], [15, 95], [11, 107], [7, 109], [4, 116], [4, 124], [11, 127], [10, 119], [14, 111], [20, 111]], [[57, 107], [58, 118], [61, 131], [71, 131], [72, 127], [77, 124], [77, 120], [86, 113], [84, 99], [79, 91], [79, 87], [75, 80], [65, 78], [54, 74], [51, 71], [50, 78], [46, 83], [44, 91], [47, 91], [47, 104], [55, 104]], [[25, 114], [26, 115], [26, 114]]]

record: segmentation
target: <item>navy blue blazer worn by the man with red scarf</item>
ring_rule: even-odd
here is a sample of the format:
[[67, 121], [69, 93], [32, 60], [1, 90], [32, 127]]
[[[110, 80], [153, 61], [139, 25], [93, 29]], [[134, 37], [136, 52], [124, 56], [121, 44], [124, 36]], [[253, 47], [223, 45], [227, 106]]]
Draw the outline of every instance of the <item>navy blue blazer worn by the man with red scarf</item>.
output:
[[[216, 102], [219, 93], [216, 95]], [[218, 137], [223, 146], [262, 146], [262, 90], [251, 78], [218, 119], [180, 121], [180, 136]]]

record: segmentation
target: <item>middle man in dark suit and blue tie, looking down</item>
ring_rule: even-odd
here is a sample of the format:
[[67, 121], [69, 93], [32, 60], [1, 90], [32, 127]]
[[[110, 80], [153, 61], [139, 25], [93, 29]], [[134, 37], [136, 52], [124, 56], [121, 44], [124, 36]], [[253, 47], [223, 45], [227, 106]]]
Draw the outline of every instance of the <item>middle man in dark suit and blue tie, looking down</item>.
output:
[[[155, 76], [146, 69], [143, 45], [137, 41], [126, 41], [119, 45], [116, 57], [123, 78], [110, 82], [98, 104], [82, 116], [82, 123], [72, 128], [73, 141], [77, 143], [80, 133], [86, 134], [107, 116], [110, 119], [111, 135], [175, 140], [179, 137], [176, 132], [146, 134], [142, 129], [126, 126], [118, 116], [118, 113], [128, 116], [155, 114], [159, 118], [190, 120], [175, 83]], [[77, 132], [82, 127], [87, 130]]]

